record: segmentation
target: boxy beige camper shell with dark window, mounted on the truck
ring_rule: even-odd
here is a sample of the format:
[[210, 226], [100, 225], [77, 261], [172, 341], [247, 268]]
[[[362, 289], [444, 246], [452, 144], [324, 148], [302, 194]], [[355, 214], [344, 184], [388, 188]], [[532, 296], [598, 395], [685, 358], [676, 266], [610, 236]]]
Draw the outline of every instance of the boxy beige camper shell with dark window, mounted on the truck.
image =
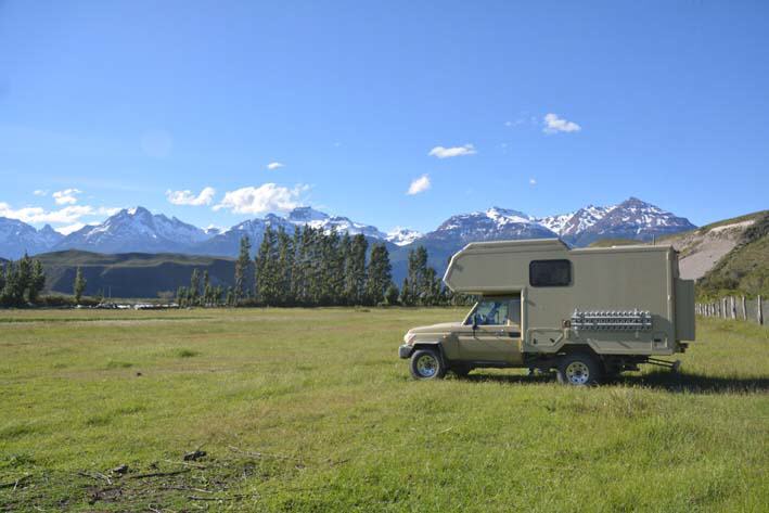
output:
[[524, 352], [587, 344], [601, 355], [671, 355], [694, 339], [694, 283], [679, 278], [668, 245], [478, 242], [451, 258], [444, 281], [457, 293], [520, 296]]

